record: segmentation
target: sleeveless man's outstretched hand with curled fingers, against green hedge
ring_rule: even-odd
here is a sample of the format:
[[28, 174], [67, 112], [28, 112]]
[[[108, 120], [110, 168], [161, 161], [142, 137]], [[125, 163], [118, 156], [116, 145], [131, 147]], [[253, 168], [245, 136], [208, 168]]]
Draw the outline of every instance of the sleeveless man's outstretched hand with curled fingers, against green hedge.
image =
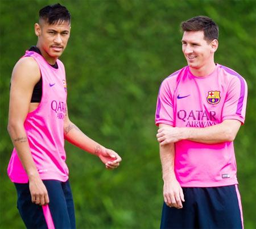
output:
[[103, 148], [98, 157], [100, 157], [101, 161], [106, 165], [107, 169], [117, 168], [119, 163], [122, 161], [121, 157], [112, 149]]

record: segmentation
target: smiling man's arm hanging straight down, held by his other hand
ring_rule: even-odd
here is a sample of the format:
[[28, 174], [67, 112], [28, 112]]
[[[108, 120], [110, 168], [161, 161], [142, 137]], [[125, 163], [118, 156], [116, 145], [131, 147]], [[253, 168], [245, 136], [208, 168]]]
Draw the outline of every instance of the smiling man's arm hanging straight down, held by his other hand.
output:
[[[159, 124], [159, 128], [168, 127], [166, 124]], [[174, 160], [175, 160], [175, 147], [174, 143], [160, 145], [160, 160], [163, 171], [163, 197], [166, 205], [170, 207], [182, 208], [182, 202], [184, 201], [183, 190], [179, 182], [177, 182], [174, 172]]]

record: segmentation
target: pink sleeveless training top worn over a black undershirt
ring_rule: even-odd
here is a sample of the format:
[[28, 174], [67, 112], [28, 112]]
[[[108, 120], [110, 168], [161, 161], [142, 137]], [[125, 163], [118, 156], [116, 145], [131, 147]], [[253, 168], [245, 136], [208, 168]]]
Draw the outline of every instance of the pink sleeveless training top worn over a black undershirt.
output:
[[[65, 164], [63, 132], [67, 101], [64, 65], [57, 60], [59, 68], [55, 69], [36, 52], [26, 51], [25, 56], [36, 60], [43, 81], [42, 100], [38, 108], [29, 113], [24, 121], [32, 157], [42, 180], [67, 181], [68, 167]], [[13, 182], [28, 182], [15, 148], [7, 172]]]

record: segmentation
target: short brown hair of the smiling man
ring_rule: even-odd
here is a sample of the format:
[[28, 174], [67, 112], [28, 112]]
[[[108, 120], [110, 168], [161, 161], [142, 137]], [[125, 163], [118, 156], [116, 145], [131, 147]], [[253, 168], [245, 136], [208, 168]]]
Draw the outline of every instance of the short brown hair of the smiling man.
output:
[[208, 16], [195, 16], [181, 23], [184, 31], [203, 31], [204, 39], [210, 43], [214, 39], [218, 40], [218, 26]]

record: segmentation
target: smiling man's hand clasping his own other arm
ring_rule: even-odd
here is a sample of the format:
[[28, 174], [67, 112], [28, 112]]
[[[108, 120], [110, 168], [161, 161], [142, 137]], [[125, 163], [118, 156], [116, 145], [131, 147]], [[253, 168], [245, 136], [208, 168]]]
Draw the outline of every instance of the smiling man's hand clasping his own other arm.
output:
[[177, 141], [185, 139], [185, 128], [180, 128], [180, 127], [159, 128], [156, 138], [158, 139], [160, 145], [176, 143]]

